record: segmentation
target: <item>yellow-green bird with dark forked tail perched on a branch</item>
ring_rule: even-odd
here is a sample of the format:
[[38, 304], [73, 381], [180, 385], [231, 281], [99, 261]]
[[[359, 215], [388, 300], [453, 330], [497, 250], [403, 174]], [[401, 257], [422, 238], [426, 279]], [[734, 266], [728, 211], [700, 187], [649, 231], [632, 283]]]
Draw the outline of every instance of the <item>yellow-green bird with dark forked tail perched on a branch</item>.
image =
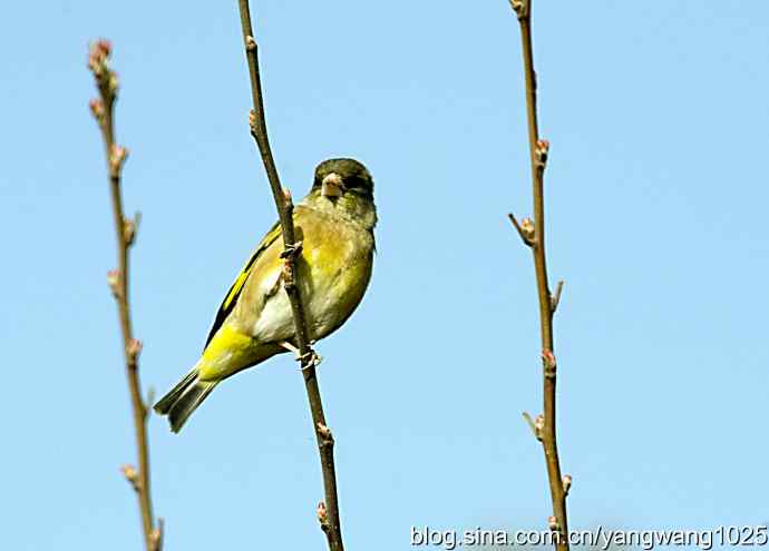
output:
[[[312, 188], [293, 209], [293, 222], [301, 242], [296, 284], [314, 343], [347, 322], [371, 279], [377, 225], [371, 174], [354, 159], [322, 161]], [[298, 352], [283, 289], [283, 248], [276, 223], [225, 295], [197, 363], [154, 405], [174, 433], [225, 378], [276, 354]]]

